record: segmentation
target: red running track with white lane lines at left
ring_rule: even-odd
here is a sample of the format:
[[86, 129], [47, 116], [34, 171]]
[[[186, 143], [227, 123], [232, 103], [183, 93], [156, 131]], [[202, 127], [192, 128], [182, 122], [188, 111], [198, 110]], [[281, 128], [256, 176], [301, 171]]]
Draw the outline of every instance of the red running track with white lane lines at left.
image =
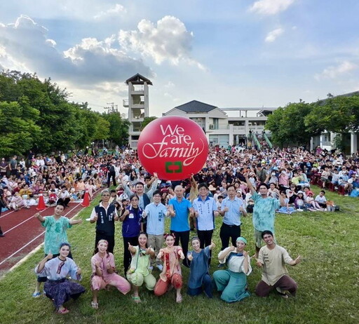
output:
[[[83, 207], [81, 203], [70, 203], [63, 215], [72, 218]], [[53, 215], [54, 208], [46, 208], [41, 215]], [[5, 236], [0, 238], [0, 275], [5, 274], [12, 266], [29, 254], [36, 246], [43, 243], [45, 229], [34, 217], [38, 212], [35, 206], [22, 208], [18, 212], [9, 210], [2, 212], [0, 226]]]

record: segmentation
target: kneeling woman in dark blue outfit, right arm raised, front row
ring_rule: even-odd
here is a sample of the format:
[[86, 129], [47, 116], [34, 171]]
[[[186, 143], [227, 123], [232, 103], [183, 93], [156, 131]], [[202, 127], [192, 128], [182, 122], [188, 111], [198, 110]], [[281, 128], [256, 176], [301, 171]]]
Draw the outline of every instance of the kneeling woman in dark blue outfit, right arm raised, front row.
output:
[[212, 278], [210, 278], [210, 272], [208, 271], [208, 261], [210, 259], [210, 250], [215, 248], [215, 243], [212, 242], [204, 249], [201, 249], [199, 238], [194, 237], [191, 239], [191, 245], [194, 250], [187, 253], [187, 258], [191, 262], [187, 294], [197, 296], [204, 291], [208, 298], [212, 298]]

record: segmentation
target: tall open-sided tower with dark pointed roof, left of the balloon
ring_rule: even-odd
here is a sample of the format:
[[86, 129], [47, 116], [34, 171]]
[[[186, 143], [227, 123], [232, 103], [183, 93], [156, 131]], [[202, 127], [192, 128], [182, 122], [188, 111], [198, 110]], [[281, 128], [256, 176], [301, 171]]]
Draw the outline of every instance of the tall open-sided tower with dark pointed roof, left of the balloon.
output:
[[123, 100], [123, 107], [128, 107], [128, 121], [130, 129], [128, 131], [128, 143], [133, 149], [137, 149], [138, 138], [144, 117], [149, 117], [149, 85], [152, 82], [136, 74], [126, 80], [128, 85], [128, 100]]

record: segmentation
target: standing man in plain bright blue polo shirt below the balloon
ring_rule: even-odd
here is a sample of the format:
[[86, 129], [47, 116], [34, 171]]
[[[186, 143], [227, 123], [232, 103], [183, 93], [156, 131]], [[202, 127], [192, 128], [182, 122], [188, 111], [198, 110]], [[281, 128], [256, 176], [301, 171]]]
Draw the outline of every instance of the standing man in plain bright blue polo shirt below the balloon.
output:
[[175, 197], [168, 201], [168, 210], [170, 211], [171, 226], [170, 231], [175, 234], [175, 245], [181, 241], [183, 254], [186, 258], [183, 260], [184, 266], [189, 267], [187, 260], [189, 243], [189, 222], [188, 214], [194, 215], [194, 209], [190, 201], [183, 196], [184, 188], [180, 185], [175, 187]]

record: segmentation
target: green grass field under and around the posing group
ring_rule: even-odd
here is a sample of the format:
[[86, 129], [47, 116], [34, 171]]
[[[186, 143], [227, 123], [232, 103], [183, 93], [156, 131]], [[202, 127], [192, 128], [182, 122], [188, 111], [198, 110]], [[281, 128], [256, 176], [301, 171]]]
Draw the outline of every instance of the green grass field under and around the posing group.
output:
[[[317, 193], [318, 187], [314, 191]], [[217, 292], [213, 299], [189, 297], [185, 293], [188, 269], [184, 269], [182, 304], [175, 303], [174, 290], [155, 297], [153, 292], [140, 288], [142, 303], [135, 304], [129, 294], [123, 296], [112, 289], [99, 293], [100, 308], [96, 311], [90, 307], [90, 257], [95, 224], [83, 222], [68, 234], [74, 259], [83, 270], [82, 284], [87, 291], [76, 302], [66, 304], [70, 313], [58, 315], [50, 299], [32, 298], [36, 280], [34, 267], [43, 257], [41, 250], [0, 281], [0, 323], [359, 323], [359, 201], [332, 193], [327, 193], [327, 198], [334, 199], [341, 212], [297, 212], [276, 217], [278, 244], [293, 258], [303, 256], [301, 264], [287, 267], [299, 286], [295, 299], [282, 299], [276, 293], [261, 299], [252, 293], [242, 302], [226, 304]], [[85, 220], [90, 210], [86, 208], [79, 217]], [[220, 249], [221, 222], [222, 219], [217, 218], [214, 255]], [[123, 276], [121, 224], [116, 225], [114, 254]], [[242, 234], [248, 239], [250, 255], [254, 253], [252, 232], [249, 215], [243, 220]], [[212, 261], [211, 274], [217, 270], [216, 259]], [[250, 292], [254, 292], [261, 277], [254, 260], [252, 267], [248, 277]], [[154, 276], [158, 278], [158, 271], [154, 271]]]

